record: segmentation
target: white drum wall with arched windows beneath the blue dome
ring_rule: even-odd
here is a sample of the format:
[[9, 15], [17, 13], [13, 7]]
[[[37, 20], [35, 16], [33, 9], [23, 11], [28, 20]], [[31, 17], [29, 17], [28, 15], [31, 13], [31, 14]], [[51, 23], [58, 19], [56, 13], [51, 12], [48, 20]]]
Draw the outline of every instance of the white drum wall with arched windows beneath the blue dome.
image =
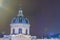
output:
[[26, 29], [28, 30], [28, 34], [30, 34], [30, 24], [10, 24], [11, 26], [11, 34], [13, 34], [13, 29], [15, 29], [15, 33], [18, 34], [19, 28], [22, 29], [22, 33], [26, 34]]

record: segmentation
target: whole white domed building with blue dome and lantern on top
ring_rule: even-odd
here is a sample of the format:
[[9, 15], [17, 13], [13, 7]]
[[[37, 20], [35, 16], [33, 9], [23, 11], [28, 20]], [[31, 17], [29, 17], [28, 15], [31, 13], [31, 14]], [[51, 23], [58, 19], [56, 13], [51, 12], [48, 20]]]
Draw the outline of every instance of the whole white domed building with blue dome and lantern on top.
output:
[[18, 15], [11, 20], [10, 35], [4, 35], [0, 40], [60, 40], [60, 39], [37, 39], [36, 36], [30, 35], [29, 20], [24, 17], [20, 8]]

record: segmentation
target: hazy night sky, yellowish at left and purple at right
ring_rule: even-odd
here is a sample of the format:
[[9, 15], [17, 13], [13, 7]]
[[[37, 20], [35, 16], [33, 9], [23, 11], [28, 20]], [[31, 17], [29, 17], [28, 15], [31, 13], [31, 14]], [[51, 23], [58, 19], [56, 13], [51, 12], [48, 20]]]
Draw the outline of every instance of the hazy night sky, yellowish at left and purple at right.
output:
[[10, 21], [21, 4], [31, 24], [31, 35], [60, 33], [60, 0], [0, 0], [0, 33], [10, 32]]

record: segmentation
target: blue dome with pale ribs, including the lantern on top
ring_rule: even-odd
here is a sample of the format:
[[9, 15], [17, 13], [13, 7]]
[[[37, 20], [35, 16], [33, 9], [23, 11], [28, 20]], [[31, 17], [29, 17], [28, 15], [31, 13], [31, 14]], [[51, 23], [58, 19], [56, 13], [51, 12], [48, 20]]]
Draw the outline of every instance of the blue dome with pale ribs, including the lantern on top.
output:
[[29, 20], [23, 16], [21, 8], [19, 10], [18, 15], [14, 17], [11, 21], [11, 24], [16, 24], [16, 23], [29, 24]]

